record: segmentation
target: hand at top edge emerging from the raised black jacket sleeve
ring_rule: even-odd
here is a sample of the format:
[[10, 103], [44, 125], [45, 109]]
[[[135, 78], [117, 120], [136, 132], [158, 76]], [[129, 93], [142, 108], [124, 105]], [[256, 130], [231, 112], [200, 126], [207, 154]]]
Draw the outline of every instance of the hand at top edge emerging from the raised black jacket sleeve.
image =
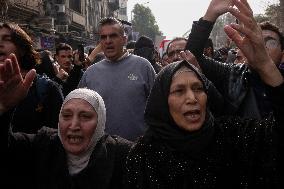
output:
[[229, 7], [233, 5], [233, 0], [212, 0], [207, 8], [204, 20], [215, 22], [216, 19], [228, 12]]

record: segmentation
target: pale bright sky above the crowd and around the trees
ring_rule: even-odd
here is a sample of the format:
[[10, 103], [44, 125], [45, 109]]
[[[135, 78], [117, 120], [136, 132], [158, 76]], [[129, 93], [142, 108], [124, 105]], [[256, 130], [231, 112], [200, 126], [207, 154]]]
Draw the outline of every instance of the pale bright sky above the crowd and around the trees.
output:
[[[163, 34], [171, 39], [182, 36], [191, 27], [194, 20], [202, 17], [210, 0], [128, 0], [128, 18], [136, 3], [148, 6], [156, 18]], [[279, 0], [248, 0], [254, 13], [263, 13], [265, 7]]]

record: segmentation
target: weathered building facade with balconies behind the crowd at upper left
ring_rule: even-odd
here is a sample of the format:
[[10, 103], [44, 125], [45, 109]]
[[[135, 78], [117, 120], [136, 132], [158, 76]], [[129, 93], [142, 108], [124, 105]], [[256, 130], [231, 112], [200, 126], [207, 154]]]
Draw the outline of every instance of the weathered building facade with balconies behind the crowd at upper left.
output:
[[59, 42], [95, 45], [100, 19], [127, 19], [126, 9], [127, 0], [0, 0], [0, 19], [18, 23], [37, 49], [54, 51]]

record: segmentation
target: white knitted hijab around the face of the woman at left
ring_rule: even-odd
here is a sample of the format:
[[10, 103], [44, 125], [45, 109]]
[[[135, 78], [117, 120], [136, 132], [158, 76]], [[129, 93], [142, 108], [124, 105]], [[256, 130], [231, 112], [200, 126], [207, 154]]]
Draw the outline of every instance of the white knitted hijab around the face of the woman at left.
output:
[[[106, 122], [106, 108], [104, 101], [102, 97], [95, 91], [86, 89], [86, 88], [80, 88], [75, 89], [71, 91], [66, 98], [64, 99], [60, 114], [62, 111], [63, 106], [71, 99], [83, 99], [87, 101], [92, 107], [95, 109], [98, 115], [98, 122], [97, 127], [93, 133], [92, 139], [88, 145], [87, 150], [80, 155], [73, 155], [70, 153], [67, 153], [67, 164], [69, 169], [69, 174], [74, 175], [76, 173], [79, 173], [81, 170], [83, 170], [89, 162], [90, 156], [97, 144], [97, 142], [102, 138], [102, 136], [105, 134], [105, 122]], [[62, 142], [59, 124], [58, 124], [58, 136]]]

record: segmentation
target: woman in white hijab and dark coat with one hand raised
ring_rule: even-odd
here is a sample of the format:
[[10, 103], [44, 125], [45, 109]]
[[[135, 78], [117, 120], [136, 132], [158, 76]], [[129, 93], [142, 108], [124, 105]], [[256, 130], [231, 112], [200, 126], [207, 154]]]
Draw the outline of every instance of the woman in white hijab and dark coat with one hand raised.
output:
[[0, 65], [0, 121], [2, 129], [6, 126], [9, 131], [8, 176], [15, 181], [11, 188], [121, 188], [132, 143], [104, 133], [106, 110], [101, 96], [75, 89], [62, 104], [58, 130], [44, 127], [32, 135], [13, 133], [9, 109], [19, 103], [34, 77], [31, 71], [23, 79], [17, 70], [14, 55]]

